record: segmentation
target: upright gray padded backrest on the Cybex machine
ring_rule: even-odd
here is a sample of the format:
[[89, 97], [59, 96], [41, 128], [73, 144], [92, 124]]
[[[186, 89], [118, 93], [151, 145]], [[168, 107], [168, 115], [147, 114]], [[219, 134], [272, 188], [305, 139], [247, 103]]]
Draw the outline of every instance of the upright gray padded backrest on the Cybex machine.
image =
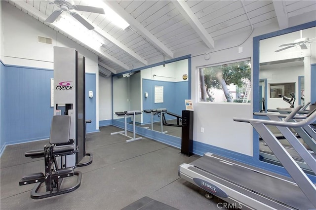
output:
[[67, 143], [70, 134], [70, 116], [55, 115], [53, 116], [50, 127], [50, 144]]

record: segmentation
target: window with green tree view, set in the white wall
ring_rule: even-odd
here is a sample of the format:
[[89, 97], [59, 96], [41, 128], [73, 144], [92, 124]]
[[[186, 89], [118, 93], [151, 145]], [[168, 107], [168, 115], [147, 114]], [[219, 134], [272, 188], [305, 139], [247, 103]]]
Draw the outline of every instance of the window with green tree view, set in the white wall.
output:
[[250, 60], [199, 69], [200, 102], [250, 101]]

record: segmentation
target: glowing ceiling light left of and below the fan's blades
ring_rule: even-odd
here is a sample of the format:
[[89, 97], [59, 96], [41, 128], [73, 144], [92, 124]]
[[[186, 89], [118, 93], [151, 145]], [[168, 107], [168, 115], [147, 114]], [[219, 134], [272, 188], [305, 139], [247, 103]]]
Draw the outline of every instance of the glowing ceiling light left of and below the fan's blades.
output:
[[103, 40], [100, 38], [100, 35], [92, 30], [88, 30], [79, 22], [74, 21], [73, 17], [66, 12], [63, 12], [59, 21], [53, 24], [91, 48], [100, 48], [102, 46]]

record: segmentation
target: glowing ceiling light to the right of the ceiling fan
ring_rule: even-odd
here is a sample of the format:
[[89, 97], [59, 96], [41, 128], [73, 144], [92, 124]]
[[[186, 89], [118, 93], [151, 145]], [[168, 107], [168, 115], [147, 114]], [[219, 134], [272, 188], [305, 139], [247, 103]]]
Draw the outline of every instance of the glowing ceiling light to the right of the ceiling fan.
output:
[[87, 1], [87, 3], [89, 6], [102, 7], [105, 12], [105, 17], [122, 30], [126, 29], [129, 26], [129, 23], [127, 23], [121, 16], [118, 15], [118, 13], [111, 9], [107, 4], [103, 3], [102, 0], [89, 0]]

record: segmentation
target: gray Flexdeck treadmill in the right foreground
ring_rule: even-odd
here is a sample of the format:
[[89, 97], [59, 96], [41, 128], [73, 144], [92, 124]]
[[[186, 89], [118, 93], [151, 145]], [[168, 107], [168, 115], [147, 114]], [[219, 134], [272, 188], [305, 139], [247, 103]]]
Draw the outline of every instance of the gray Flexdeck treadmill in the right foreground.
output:
[[316, 160], [289, 128], [302, 128], [316, 121], [316, 111], [306, 119], [291, 122], [294, 109], [283, 121], [234, 118], [251, 123], [265, 140], [290, 177], [250, 166], [216, 154], [206, 153], [190, 164], [179, 166], [178, 175], [239, 209], [316, 209], [316, 186], [289, 155], [266, 125], [276, 126], [316, 173]]

